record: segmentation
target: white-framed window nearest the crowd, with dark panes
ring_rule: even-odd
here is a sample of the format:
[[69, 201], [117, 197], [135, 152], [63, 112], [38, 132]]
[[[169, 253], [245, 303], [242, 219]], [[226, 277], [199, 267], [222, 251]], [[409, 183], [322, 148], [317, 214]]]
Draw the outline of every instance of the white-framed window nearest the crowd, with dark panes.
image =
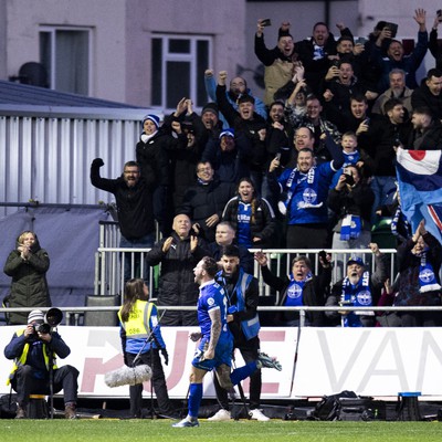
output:
[[151, 105], [173, 109], [183, 97], [207, 103], [204, 71], [211, 65], [211, 39], [155, 35], [151, 40]]

